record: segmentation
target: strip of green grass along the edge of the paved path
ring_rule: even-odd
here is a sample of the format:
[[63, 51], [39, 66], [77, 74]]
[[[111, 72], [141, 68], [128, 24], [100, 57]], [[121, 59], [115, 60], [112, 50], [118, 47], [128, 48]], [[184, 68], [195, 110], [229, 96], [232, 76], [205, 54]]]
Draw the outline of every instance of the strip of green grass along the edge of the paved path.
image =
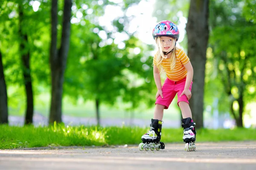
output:
[[[148, 130], [142, 127], [97, 127], [53, 125], [17, 127], [0, 125], [0, 149], [49, 146], [101, 146], [139, 144]], [[161, 141], [182, 142], [182, 128], [163, 129]], [[256, 129], [197, 130], [197, 142], [256, 140]]]

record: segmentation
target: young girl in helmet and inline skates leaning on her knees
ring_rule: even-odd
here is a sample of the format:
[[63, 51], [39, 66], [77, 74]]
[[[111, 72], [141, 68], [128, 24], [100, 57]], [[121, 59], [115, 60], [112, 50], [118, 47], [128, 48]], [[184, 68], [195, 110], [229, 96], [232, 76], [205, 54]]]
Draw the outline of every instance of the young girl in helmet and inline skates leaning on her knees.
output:
[[[189, 108], [191, 98], [193, 68], [189, 58], [180, 48], [176, 47], [179, 38], [177, 26], [171, 21], [161, 21], [153, 29], [157, 52], [154, 55], [154, 81], [157, 86], [154, 119], [151, 119], [150, 130], [142, 136], [140, 150], [164, 149], [161, 139], [163, 109], [168, 109], [175, 95], [182, 112], [183, 141], [187, 151], [195, 150], [195, 123]], [[160, 73], [166, 72], [166, 80], [161, 85]]]

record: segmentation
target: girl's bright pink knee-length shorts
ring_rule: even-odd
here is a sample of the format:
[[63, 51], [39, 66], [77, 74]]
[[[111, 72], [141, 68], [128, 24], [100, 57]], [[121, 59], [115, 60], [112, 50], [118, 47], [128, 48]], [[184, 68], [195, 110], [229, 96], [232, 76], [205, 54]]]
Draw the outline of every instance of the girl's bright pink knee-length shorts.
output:
[[[189, 103], [189, 100], [185, 94], [180, 97], [180, 94], [184, 90], [185, 83], [186, 83], [186, 77], [177, 82], [166, 78], [162, 87], [163, 99], [161, 96], [158, 96], [155, 104], [164, 105], [165, 109], [168, 109], [169, 105], [171, 104], [176, 94], [178, 94], [178, 102], [177, 102], [178, 105], [179, 105], [179, 102], [181, 101]], [[193, 82], [191, 82], [189, 86], [189, 91], [191, 91], [192, 84]]]

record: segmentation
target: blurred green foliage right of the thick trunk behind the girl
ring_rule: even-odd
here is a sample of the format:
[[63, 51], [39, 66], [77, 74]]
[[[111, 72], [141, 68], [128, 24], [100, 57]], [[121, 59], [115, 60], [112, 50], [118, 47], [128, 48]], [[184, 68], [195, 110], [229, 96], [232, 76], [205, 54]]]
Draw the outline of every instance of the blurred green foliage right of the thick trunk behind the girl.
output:
[[207, 51], [205, 101], [212, 105], [214, 99], [219, 99], [220, 112], [229, 112], [230, 105], [241, 96], [244, 96], [243, 109], [255, 101], [256, 25], [244, 17], [251, 14], [247, 3], [250, 2], [212, 0], [210, 4], [212, 31]]

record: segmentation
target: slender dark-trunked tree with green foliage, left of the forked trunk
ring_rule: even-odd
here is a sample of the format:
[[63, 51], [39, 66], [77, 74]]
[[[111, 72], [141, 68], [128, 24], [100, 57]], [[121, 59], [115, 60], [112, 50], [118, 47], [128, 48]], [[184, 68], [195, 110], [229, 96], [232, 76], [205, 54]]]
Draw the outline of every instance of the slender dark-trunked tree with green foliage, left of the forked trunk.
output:
[[[9, 114], [23, 114], [25, 111], [25, 124], [32, 123], [34, 95], [40, 91], [44, 82], [49, 86], [49, 57], [46, 57], [45, 52], [49, 45], [44, 45], [46, 40], [49, 41], [49, 2], [37, 1], [41, 7], [38, 11], [33, 9], [32, 3], [5, 0], [0, 4], [0, 42], [9, 90]], [[33, 64], [29, 65], [29, 62]]]

